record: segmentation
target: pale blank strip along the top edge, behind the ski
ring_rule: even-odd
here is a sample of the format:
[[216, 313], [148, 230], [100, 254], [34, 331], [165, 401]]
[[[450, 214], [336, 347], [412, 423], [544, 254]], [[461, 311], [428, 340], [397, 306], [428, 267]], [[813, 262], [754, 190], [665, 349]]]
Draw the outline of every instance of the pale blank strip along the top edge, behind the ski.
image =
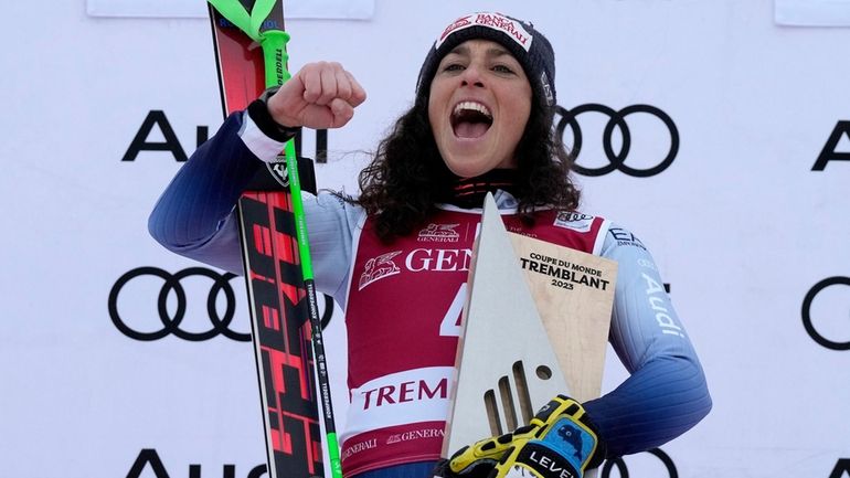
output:
[[[369, 20], [374, 0], [289, 0], [287, 19]], [[199, 0], [86, 0], [91, 17], [206, 18], [206, 2]]]

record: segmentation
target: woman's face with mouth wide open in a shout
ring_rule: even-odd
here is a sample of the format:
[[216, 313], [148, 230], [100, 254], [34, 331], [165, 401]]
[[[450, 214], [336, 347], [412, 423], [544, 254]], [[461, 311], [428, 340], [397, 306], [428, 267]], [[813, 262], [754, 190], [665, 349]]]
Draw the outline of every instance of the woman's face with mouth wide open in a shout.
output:
[[431, 83], [428, 119], [448, 169], [470, 178], [516, 168], [531, 95], [522, 65], [498, 43], [469, 40], [444, 56]]

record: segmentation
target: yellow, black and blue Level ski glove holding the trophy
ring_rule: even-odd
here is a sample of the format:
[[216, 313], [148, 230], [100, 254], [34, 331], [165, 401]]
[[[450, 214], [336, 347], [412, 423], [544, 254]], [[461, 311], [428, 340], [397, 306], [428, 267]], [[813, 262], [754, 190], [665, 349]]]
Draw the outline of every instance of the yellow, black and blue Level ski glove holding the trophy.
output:
[[584, 407], [559, 395], [513, 433], [465, 446], [437, 464], [444, 478], [582, 478], [605, 459]]

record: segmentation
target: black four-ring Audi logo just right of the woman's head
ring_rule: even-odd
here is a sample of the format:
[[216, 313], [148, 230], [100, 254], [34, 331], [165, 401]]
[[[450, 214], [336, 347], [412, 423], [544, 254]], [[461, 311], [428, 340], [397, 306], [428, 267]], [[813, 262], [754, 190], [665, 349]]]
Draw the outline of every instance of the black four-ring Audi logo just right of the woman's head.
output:
[[[575, 158], [573, 169], [580, 174], [596, 177], [607, 174], [614, 170], [619, 170], [635, 178], [648, 178], [650, 176], [656, 176], [669, 168], [670, 164], [673, 163], [676, 155], [679, 153], [679, 129], [676, 127], [676, 123], [673, 123], [672, 118], [670, 118], [670, 115], [655, 106], [631, 105], [620, 110], [615, 110], [614, 108], [605, 105], [589, 103], [586, 105], [576, 106], [572, 109], [557, 106], [556, 111], [561, 116], [556, 123], [557, 134], [560, 137], [564, 138], [564, 132], [566, 131], [567, 127], [570, 127], [572, 132], [572, 145], [567, 141], [567, 138], [564, 138], [564, 145], [571, 150], [573, 157]], [[602, 147], [605, 151], [607, 164], [594, 168], [583, 166], [581, 162], [581, 153], [585, 137], [580, 125], [578, 117], [585, 113], [599, 113], [608, 118], [602, 132]], [[629, 152], [631, 152], [633, 146], [631, 129], [626, 123], [626, 117], [637, 114], [649, 115], [661, 121], [661, 124], [666, 127], [670, 138], [670, 148], [667, 150], [667, 152], [663, 153], [663, 156], [659, 155], [657, 160], [652, 160], [654, 166], [647, 168], [638, 168], [636, 166], [626, 164], [626, 160], [629, 158]], [[615, 131], [619, 134], [618, 141], [616, 141], [617, 138], [615, 137]], [[654, 138], [650, 139], [654, 140]]]

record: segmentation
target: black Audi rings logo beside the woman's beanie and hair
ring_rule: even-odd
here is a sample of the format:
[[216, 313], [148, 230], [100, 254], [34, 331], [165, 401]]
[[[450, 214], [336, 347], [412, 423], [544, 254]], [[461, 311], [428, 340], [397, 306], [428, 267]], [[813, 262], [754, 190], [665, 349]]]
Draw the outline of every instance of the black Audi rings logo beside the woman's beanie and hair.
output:
[[[676, 156], [679, 153], [679, 128], [676, 127], [676, 123], [673, 123], [670, 115], [658, 107], [650, 105], [631, 105], [616, 110], [605, 105], [588, 103], [578, 105], [572, 109], [557, 106], [556, 113], [560, 116], [560, 119], [556, 118], [557, 135], [563, 138], [564, 146], [572, 152], [575, 159], [573, 170], [578, 174], [597, 177], [613, 171], [621, 171], [625, 174], [635, 178], [649, 178], [659, 174], [669, 168], [670, 164], [673, 163], [673, 160], [676, 160]], [[605, 159], [603, 160], [604, 164], [602, 166], [587, 166], [593, 161], [588, 161], [586, 157], [582, 156], [585, 139], [596, 140], [595, 137], [586, 138], [585, 134], [588, 131], [585, 131], [585, 129], [582, 128], [585, 121], [580, 117], [583, 117], [583, 115], [587, 113], [597, 113], [607, 118], [601, 138], [602, 149], [605, 155]], [[652, 120], [660, 123], [662, 129], [666, 131], [662, 134], [666, 138], [656, 136], [657, 130], [655, 128], [640, 128], [638, 130], [638, 128], [629, 126], [629, 121], [636, 116], [648, 116]], [[587, 116], [584, 116], [584, 118], [586, 117]], [[570, 141], [567, 137], [564, 137], [567, 128], [572, 134], [572, 141]], [[667, 151], [657, 153], [657, 157], [651, 157], [649, 159], [640, 157], [636, 159], [634, 156], [638, 156], [642, 152], [639, 151], [638, 155], [634, 153], [633, 138], [637, 135], [640, 135], [642, 141], [658, 142], [668, 140], [670, 146]], [[650, 137], [650, 135], [652, 136]], [[596, 162], [598, 163], [598, 160]]]

